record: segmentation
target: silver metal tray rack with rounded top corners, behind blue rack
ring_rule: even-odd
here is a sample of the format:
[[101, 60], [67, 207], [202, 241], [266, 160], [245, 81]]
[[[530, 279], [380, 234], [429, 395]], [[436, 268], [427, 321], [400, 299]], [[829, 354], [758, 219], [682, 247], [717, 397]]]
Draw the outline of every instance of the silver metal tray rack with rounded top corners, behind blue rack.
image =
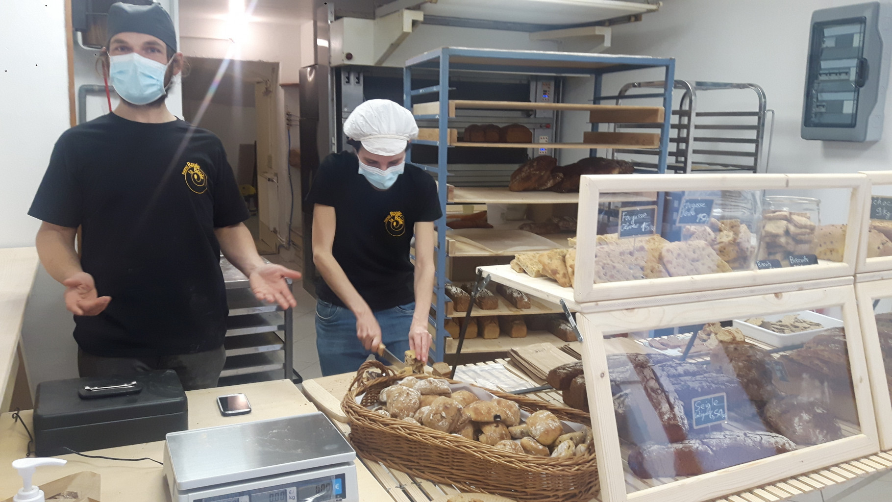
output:
[[[662, 88], [663, 81], [632, 82], [623, 86], [616, 104], [638, 97], [630, 91]], [[730, 82], [688, 82], [675, 80], [675, 89], [683, 91], [677, 109], [673, 110], [675, 145], [669, 153], [673, 159], [666, 169], [677, 173], [691, 172], [765, 172], [768, 155], [765, 151], [767, 110], [765, 92], [756, 84]], [[698, 109], [698, 94], [707, 91], [744, 90], [755, 95], [755, 109], [745, 111], [702, 111]], [[713, 94], [713, 93], [710, 93]], [[773, 111], [772, 111], [773, 113]], [[615, 124], [615, 130], [653, 128], [652, 124]], [[696, 136], [696, 135], [700, 136]], [[771, 142], [769, 135], [768, 141]], [[656, 172], [657, 163], [646, 159], [654, 152], [640, 149], [615, 149], [612, 157], [631, 160], [640, 172]], [[619, 154], [619, 156], [617, 156]], [[629, 156], [636, 158], [629, 158]]]

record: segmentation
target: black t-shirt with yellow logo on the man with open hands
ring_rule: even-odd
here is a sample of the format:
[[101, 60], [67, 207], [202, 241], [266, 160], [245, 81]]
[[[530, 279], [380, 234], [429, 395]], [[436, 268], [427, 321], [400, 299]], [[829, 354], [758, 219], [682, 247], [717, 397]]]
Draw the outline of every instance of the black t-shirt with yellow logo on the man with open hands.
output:
[[223, 144], [183, 120], [109, 113], [62, 133], [29, 215], [82, 226], [81, 266], [111, 303], [75, 316], [74, 338], [104, 357], [212, 350], [226, 335], [214, 228], [248, 218]]

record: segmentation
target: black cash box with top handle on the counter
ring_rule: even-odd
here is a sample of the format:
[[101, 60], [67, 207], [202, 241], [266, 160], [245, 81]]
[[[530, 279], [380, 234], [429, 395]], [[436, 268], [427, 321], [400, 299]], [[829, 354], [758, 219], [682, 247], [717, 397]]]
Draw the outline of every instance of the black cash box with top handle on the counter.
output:
[[173, 370], [37, 384], [38, 457], [160, 441], [188, 428], [186, 392]]

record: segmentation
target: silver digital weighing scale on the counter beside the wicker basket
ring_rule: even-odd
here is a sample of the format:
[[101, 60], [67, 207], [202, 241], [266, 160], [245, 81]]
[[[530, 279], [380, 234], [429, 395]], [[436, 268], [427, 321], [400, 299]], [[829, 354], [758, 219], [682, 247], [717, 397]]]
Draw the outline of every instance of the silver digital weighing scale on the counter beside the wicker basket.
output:
[[322, 413], [170, 432], [173, 502], [359, 502], [356, 452]]

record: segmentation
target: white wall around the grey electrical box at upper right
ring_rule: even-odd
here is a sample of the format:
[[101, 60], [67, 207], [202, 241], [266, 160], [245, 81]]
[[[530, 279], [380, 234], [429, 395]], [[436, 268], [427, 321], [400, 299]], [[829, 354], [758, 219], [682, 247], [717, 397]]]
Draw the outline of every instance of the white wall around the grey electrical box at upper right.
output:
[[[885, 130], [879, 142], [822, 142], [799, 137], [812, 12], [853, 3], [665, 0], [658, 12], [646, 14], [643, 21], [615, 27], [610, 52], [672, 56], [676, 60], [675, 78], [679, 79], [763, 86], [768, 107], [777, 111], [772, 172], [890, 169], [892, 103], [888, 101]], [[606, 78], [605, 93], [617, 90], [626, 81], [626, 77]]]

